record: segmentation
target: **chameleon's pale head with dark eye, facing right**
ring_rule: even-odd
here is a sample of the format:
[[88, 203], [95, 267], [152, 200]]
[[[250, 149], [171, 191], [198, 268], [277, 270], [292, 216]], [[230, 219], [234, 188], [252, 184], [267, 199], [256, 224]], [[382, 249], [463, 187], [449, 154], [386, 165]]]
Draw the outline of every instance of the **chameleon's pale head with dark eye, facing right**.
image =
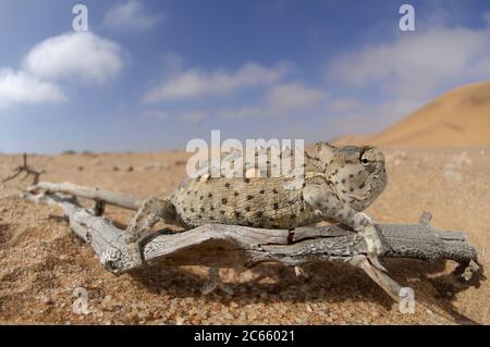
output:
[[376, 147], [336, 148], [319, 142], [314, 156], [326, 165], [326, 176], [339, 195], [357, 211], [370, 206], [387, 186], [384, 154]]

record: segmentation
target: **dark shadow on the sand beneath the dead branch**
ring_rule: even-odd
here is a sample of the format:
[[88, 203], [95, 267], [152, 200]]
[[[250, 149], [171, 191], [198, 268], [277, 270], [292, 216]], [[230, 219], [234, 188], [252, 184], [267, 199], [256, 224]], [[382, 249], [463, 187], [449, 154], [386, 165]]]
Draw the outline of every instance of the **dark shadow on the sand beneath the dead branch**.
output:
[[[385, 259], [384, 264], [393, 280], [400, 285], [412, 287], [416, 295], [416, 305], [437, 306], [446, 318], [456, 324], [479, 324], [457, 312], [453, 301], [456, 294], [476, 283], [463, 284], [454, 273], [448, 273], [446, 261], [428, 263], [419, 260]], [[316, 263], [304, 268], [307, 278], [296, 277], [292, 268], [280, 264], [258, 264], [250, 269], [253, 280], [228, 283], [234, 290], [230, 296], [215, 292], [208, 300], [228, 303], [240, 297], [245, 305], [264, 302], [316, 302], [327, 301], [373, 301], [387, 310], [396, 305], [364, 272], [344, 263]], [[224, 270], [222, 276], [226, 277]], [[164, 288], [176, 297], [200, 297], [200, 287], [205, 278], [191, 273], [185, 268], [159, 268], [158, 265], [132, 272], [131, 275], [148, 290], [158, 294]], [[236, 277], [236, 275], [233, 275]], [[485, 280], [481, 275], [480, 280]], [[223, 280], [223, 282], [226, 282]]]

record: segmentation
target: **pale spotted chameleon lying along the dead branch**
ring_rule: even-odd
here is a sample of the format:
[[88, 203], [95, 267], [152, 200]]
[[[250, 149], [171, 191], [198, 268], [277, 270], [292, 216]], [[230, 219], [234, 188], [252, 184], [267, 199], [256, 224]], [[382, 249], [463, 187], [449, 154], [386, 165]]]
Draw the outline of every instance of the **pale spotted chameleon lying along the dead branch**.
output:
[[[294, 160], [297, 153], [287, 152]], [[303, 154], [304, 175], [296, 186], [295, 176], [271, 176], [268, 161], [266, 173], [213, 177], [207, 172], [184, 179], [167, 199], [145, 200], [127, 228], [126, 245], [133, 261], [143, 261], [143, 233], [160, 220], [186, 228], [229, 224], [287, 230], [328, 221], [360, 233], [368, 259], [385, 271], [378, 261], [383, 249], [375, 223], [363, 212], [388, 183], [382, 151], [372, 146], [335, 147], [321, 141]]]

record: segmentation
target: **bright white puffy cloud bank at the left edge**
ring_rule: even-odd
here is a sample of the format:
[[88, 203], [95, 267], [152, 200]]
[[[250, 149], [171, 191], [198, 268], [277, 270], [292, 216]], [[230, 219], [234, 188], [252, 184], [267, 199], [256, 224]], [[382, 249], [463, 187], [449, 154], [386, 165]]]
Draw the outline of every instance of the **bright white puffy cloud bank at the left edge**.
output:
[[0, 69], [0, 108], [63, 102], [68, 98], [54, 80], [102, 83], [121, 67], [121, 49], [110, 40], [91, 33], [50, 37], [29, 50], [22, 69]]

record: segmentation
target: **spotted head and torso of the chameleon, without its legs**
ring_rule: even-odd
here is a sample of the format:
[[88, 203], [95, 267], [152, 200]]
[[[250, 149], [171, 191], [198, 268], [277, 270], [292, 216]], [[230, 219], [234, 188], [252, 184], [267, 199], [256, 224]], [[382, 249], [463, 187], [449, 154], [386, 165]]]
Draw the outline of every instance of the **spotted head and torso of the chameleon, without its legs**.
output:
[[[363, 154], [370, 154], [366, 157], [368, 163], [362, 162]], [[372, 203], [388, 181], [384, 158], [376, 148], [318, 144], [313, 156], [305, 156], [305, 181], [297, 189], [286, 188], [295, 177], [204, 175], [184, 181], [170, 201], [181, 224], [187, 227], [220, 223], [294, 228], [321, 220], [345, 222], [354, 218], [355, 212]], [[316, 193], [320, 201], [311, 197], [311, 187], [317, 186], [322, 187], [321, 195]]]

